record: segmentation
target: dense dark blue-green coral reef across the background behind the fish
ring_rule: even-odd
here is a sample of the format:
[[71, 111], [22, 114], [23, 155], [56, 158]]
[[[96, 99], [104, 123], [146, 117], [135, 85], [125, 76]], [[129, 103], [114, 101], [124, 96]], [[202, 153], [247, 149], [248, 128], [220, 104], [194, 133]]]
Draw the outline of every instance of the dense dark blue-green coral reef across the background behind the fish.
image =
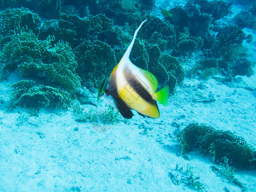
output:
[[[76, 97], [81, 80], [83, 86], [97, 87], [109, 76], [131, 42], [134, 29], [147, 18], [131, 61], [157, 76], [160, 85], [168, 84], [171, 92], [185, 76], [184, 67], [173, 56], [202, 54], [202, 61], [194, 68], [202, 79], [218, 71], [228, 77], [253, 74], [253, 63], [246, 59], [242, 44], [245, 39], [250, 41], [250, 36], [246, 38], [237, 26], [224, 26], [218, 21], [227, 15], [230, 4], [189, 0], [186, 6], [170, 8], [172, 17], [163, 20], [148, 15], [154, 4], [154, 0], [1, 1], [2, 8], [24, 5], [36, 12], [12, 8], [0, 13], [4, 70], [19, 70], [22, 77]], [[51, 11], [44, 13], [45, 8]], [[246, 18], [253, 18], [255, 9], [251, 8], [250, 14]], [[243, 20], [235, 20], [240, 27], [246, 26]]]

